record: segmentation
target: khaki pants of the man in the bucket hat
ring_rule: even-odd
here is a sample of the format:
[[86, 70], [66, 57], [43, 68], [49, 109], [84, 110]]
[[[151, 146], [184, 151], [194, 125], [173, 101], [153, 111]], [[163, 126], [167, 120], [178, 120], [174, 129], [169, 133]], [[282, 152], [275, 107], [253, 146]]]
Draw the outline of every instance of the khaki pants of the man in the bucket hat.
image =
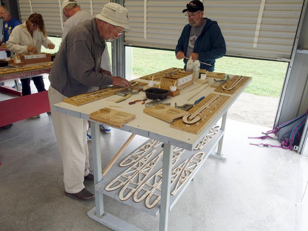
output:
[[87, 120], [54, 111], [53, 105], [67, 97], [53, 87], [48, 89], [51, 119], [63, 163], [63, 181], [67, 193], [78, 193], [84, 187], [84, 176], [89, 174]]

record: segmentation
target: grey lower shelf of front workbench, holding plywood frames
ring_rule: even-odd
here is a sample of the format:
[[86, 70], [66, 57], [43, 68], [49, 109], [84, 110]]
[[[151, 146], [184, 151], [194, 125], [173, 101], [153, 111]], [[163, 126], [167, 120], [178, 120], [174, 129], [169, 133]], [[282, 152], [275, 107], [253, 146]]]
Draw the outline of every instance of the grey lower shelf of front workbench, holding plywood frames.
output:
[[[193, 150], [193, 151], [187, 151], [185, 150], [181, 156], [179, 157], [179, 160], [176, 162], [175, 166], [178, 166], [180, 163], [182, 163], [184, 160], [186, 159], [190, 159], [195, 153], [197, 152], [205, 152], [206, 156], [203, 159], [203, 161], [201, 162], [201, 164], [199, 164], [199, 166], [197, 167], [196, 171], [194, 171], [191, 176], [189, 176], [189, 179], [185, 182], [185, 184], [179, 189], [179, 191], [176, 193], [175, 196], [172, 196], [170, 194], [170, 206], [169, 206], [169, 211], [173, 208], [173, 206], [176, 204], [176, 201], [180, 198], [180, 196], [182, 195], [182, 193], [184, 192], [184, 190], [188, 187], [189, 183], [191, 182], [191, 180], [193, 179], [193, 177], [195, 176], [195, 174], [197, 174], [197, 172], [199, 171], [199, 169], [201, 168], [201, 166], [203, 165], [203, 163], [205, 162], [205, 160], [207, 159], [207, 157], [209, 156], [209, 154], [213, 151], [213, 149], [216, 147], [216, 145], [218, 144], [219, 140], [221, 139], [221, 137], [224, 135], [224, 130], [219, 130], [216, 134], [216, 136], [213, 137], [212, 140], [209, 141], [208, 144], [205, 145], [205, 147], [202, 150]], [[148, 143], [148, 141], [150, 141], [151, 139], [147, 140], [144, 144]], [[147, 153], [151, 152], [154, 148], [151, 148], [148, 150]], [[160, 146], [156, 148], [156, 154], [160, 153], [163, 148], [161, 148]], [[128, 200], [126, 201], [121, 201], [119, 198], [119, 193], [122, 189], [122, 187], [113, 190], [113, 191], [106, 191], [105, 188], [106, 186], [117, 176], [119, 176], [122, 172], [124, 172], [128, 167], [120, 167], [119, 163], [122, 161], [123, 158], [119, 158], [119, 160], [112, 166], [112, 168], [109, 170], [109, 172], [107, 172], [107, 174], [105, 176], [103, 176], [103, 179], [98, 182], [95, 185], [95, 190], [99, 191], [101, 193], [103, 193], [104, 195], [107, 195], [109, 197], [112, 197], [114, 199], [116, 199], [117, 201], [123, 202], [126, 205], [132, 206], [136, 209], [139, 209], [145, 213], [148, 213], [154, 217], [156, 217], [159, 213], [160, 213], [160, 202], [152, 209], [148, 209], [145, 205], [145, 200], [140, 201], [140, 202], [135, 202], [133, 199], [133, 195], [128, 198]], [[149, 176], [147, 176], [147, 178], [145, 180], [148, 180], [148, 178], [150, 178], [153, 174], [155, 174], [160, 168], [162, 168], [162, 163], [163, 163], [163, 158], [161, 157], [158, 160], [158, 163], [156, 164], [156, 166], [152, 169], [152, 171], [150, 172]], [[173, 167], [175, 168], [175, 167]], [[172, 168], [172, 169], [173, 169]], [[178, 177], [176, 178], [177, 181]], [[145, 182], [145, 181], [144, 181]], [[173, 191], [173, 189], [176, 187], [176, 182], [171, 186], [171, 190], [170, 192]]]

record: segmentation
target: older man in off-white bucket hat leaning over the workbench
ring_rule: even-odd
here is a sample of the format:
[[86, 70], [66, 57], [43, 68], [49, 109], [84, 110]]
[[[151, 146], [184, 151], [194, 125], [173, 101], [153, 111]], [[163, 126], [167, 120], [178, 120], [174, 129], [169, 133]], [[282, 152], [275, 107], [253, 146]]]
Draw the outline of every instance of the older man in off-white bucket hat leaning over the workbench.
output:
[[107, 3], [101, 14], [91, 21], [74, 26], [65, 36], [49, 74], [48, 90], [51, 118], [63, 162], [65, 195], [81, 201], [94, 199], [84, 180], [93, 180], [89, 172], [87, 121], [53, 110], [53, 105], [67, 97], [94, 91], [95, 87], [130, 82], [120, 76], [108, 75], [100, 67], [106, 41], [120, 38], [129, 30], [128, 10], [117, 3]]

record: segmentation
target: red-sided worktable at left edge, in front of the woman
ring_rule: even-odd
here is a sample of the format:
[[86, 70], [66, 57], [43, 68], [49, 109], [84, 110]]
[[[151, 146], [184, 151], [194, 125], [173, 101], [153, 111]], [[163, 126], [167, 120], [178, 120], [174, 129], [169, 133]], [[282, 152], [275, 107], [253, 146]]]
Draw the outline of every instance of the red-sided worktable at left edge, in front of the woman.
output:
[[[46, 65], [48, 63], [36, 63], [27, 66]], [[42, 70], [21, 71], [17, 73], [0, 75], [0, 91], [11, 93], [14, 95], [22, 96], [21, 87], [19, 86], [19, 79], [27, 79], [43, 74], [48, 74], [51, 71], [51, 67], [46, 67]], [[5, 82], [15, 82], [16, 89], [7, 87]], [[20, 120], [30, 118], [34, 115], [50, 111], [48, 91], [42, 91], [31, 95], [25, 95], [13, 99], [0, 101], [0, 127], [6, 124], [11, 124]]]

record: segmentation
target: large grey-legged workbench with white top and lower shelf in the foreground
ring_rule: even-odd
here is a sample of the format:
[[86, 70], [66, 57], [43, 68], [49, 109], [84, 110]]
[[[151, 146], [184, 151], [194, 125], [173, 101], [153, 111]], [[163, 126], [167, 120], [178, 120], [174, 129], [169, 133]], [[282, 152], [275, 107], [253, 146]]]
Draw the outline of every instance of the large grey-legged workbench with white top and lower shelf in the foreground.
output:
[[[229, 75], [231, 78], [233, 75]], [[136, 81], [139, 81], [136, 79]], [[145, 80], [141, 80], [145, 82]], [[209, 79], [210, 82], [213, 82], [213, 79]], [[245, 88], [248, 86], [248, 84], [251, 82], [251, 79], [246, 82], [242, 87], [240, 87], [235, 94], [228, 95], [231, 96], [230, 99], [225, 103], [224, 107], [220, 108], [217, 114], [209, 121], [207, 126], [205, 126], [201, 132], [199, 132], [197, 135], [194, 135], [192, 133], [183, 132], [174, 128], [169, 127], [169, 123], [164, 122], [163, 120], [156, 119], [150, 115], [146, 115], [143, 113], [144, 105], [141, 103], [136, 103], [132, 105], [128, 105], [128, 102], [134, 101], [136, 99], [144, 99], [145, 93], [140, 92], [137, 95], [132, 95], [129, 99], [120, 102], [120, 103], [113, 103], [109, 102], [107, 100], [113, 100], [113, 99], [119, 99], [121, 96], [113, 95], [104, 99], [100, 99], [91, 103], [84, 104], [82, 106], [74, 106], [68, 103], [58, 103], [54, 105], [55, 111], [71, 115], [77, 118], [82, 118], [84, 120], [89, 120], [89, 114], [93, 111], [97, 111], [103, 107], [108, 107], [109, 105], [117, 105], [123, 108], [115, 108], [116, 110], [132, 113], [136, 115], [136, 119], [128, 122], [127, 124], [124, 124], [120, 130], [131, 132], [140, 136], [148, 137], [150, 139], [154, 139], [160, 142], [164, 143], [163, 148], [163, 158], [161, 160], [162, 162], [162, 187], [161, 187], [161, 201], [160, 204], [156, 205], [153, 209], [148, 209], [145, 207], [145, 205], [140, 204], [142, 202], [136, 203], [132, 200], [132, 198], [129, 198], [127, 201], [122, 201], [123, 203], [130, 205], [136, 209], [140, 209], [141, 211], [144, 211], [146, 213], [149, 213], [153, 216], [156, 216], [160, 214], [160, 223], [159, 223], [159, 230], [160, 231], [166, 231], [168, 229], [168, 212], [172, 209], [172, 207], [175, 205], [176, 201], [179, 199], [180, 195], [183, 193], [185, 188], [188, 187], [188, 184], [191, 180], [188, 180], [184, 184], [182, 188], [180, 188], [180, 191], [175, 195], [172, 196], [170, 194], [170, 180], [171, 180], [171, 171], [172, 171], [172, 156], [173, 156], [173, 148], [179, 147], [184, 148], [188, 151], [192, 151], [193, 148], [197, 146], [199, 141], [204, 138], [204, 136], [209, 132], [209, 130], [222, 118], [221, 122], [221, 129], [217, 133], [217, 135], [209, 141], [209, 143], [204, 147], [203, 150], [198, 150], [195, 152], [205, 152], [206, 156], [205, 159], [208, 156], [215, 157], [221, 160], [225, 160], [225, 156], [221, 153], [222, 148], [222, 142], [223, 142], [223, 135], [225, 131], [225, 125], [226, 125], [226, 118], [227, 118], [227, 111], [229, 107], [235, 102], [235, 100], [238, 98], [238, 96], [245, 90]], [[159, 84], [159, 82], [157, 82]], [[193, 96], [199, 89], [195, 91], [189, 91], [190, 89], [193, 89], [197, 86], [197, 84], [193, 84], [189, 87], [184, 88], [181, 90], [183, 93], [187, 92], [185, 94], [180, 94], [176, 97], [168, 97], [165, 100], [165, 103], [171, 103], [171, 106], [174, 107], [174, 103], [176, 102], [178, 105], [183, 105], [185, 103], [194, 103], [195, 100], [199, 99], [202, 96], [209, 95], [210, 93], [215, 93], [214, 88], [207, 87], [204, 91], [193, 97], [191, 100], [187, 101], [187, 99], [190, 96]], [[201, 88], [200, 88], [201, 89]], [[227, 94], [223, 94], [227, 95]], [[112, 107], [111, 107], [112, 108]], [[110, 182], [112, 179], [117, 176], [117, 173], [120, 170], [118, 167], [118, 162], [115, 163], [115, 165], [111, 168], [110, 174], [109, 172], [102, 178], [102, 166], [101, 166], [101, 144], [100, 144], [100, 132], [99, 132], [99, 123], [95, 121], [91, 121], [91, 135], [92, 135], [92, 157], [93, 157], [93, 171], [94, 171], [94, 183], [95, 183], [95, 207], [93, 207], [89, 212], [88, 216], [94, 219], [95, 221], [98, 221], [99, 223], [109, 227], [112, 230], [120, 230], [120, 231], [137, 231], [141, 230], [131, 224], [129, 224], [126, 221], [121, 220], [118, 217], [115, 217], [109, 213], [107, 213], [104, 210], [103, 207], [103, 194], [109, 195], [110, 197], [115, 198], [116, 200], [119, 200], [118, 192], [107, 192], [105, 190], [105, 186], [108, 182]], [[122, 142], [121, 142], [122, 143]], [[124, 143], [124, 141], [123, 141]], [[217, 152], [213, 152], [213, 149], [217, 147]], [[119, 144], [120, 146], [120, 144]], [[186, 151], [185, 151], [186, 152]], [[188, 152], [187, 152], [188, 153]], [[121, 158], [121, 160], [123, 157]], [[202, 163], [204, 163], [205, 160], [203, 160]], [[200, 164], [197, 167], [197, 171], [193, 172], [193, 175], [195, 175], [198, 170], [201, 168]], [[161, 167], [160, 167], [161, 168]], [[122, 169], [122, 172], [124, 170]], [[153, 170], [150, 176], [152, 176], [156, 171]], [[150, 177], [149, 176], [149, 177]], [[113, 178], [112, 178], [113, 177]], [[112, 179], [111, 179], [112, 178]], [[192, 176], [193, 178], [193, 176]], [[191, 179], [192, 179], [191, 178]], [[147, 178], [145, 179], [147, 180]], [[174, 185], [173, 185], [174, 186]], [[115, 190], [119, 191], [119, 190]]]

